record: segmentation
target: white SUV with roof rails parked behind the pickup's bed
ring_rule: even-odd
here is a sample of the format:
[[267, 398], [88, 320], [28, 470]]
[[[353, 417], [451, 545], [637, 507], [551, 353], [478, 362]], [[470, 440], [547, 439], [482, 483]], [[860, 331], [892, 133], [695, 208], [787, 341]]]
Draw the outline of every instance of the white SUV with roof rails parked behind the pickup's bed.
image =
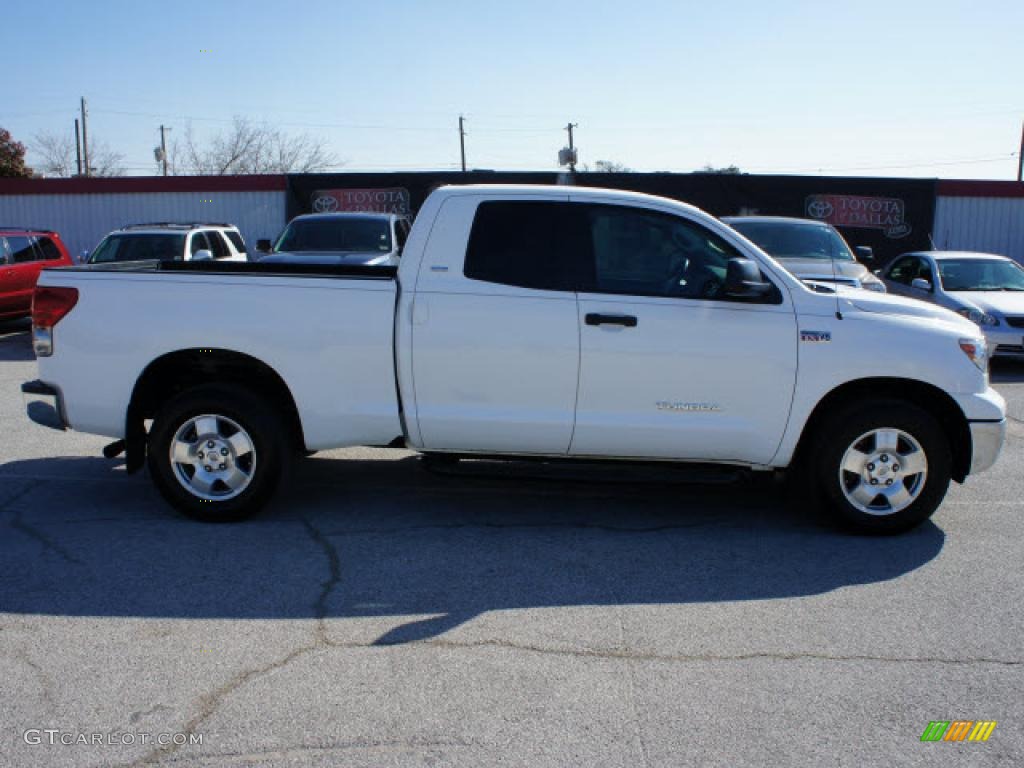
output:
[[247, 261], [246, 244], [230, 224], [135, 224], [115, 229], [96, 246], [86, 262], [115, 261]]

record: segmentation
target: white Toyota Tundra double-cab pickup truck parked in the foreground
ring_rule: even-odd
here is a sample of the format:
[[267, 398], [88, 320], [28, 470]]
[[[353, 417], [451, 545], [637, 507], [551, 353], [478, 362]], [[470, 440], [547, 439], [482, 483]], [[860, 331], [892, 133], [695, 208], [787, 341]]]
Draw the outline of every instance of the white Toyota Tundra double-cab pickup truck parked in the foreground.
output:
[[207, 520], [254, 512], [302, 451], [368, 444], [787, 469], [894, 532], [1006, 433], [970, 322], [815, 292], [701, 211], [605, 189], [442, 187], [396, 268], [47, 270], [34, 343], [30, 416], [116, 438]]

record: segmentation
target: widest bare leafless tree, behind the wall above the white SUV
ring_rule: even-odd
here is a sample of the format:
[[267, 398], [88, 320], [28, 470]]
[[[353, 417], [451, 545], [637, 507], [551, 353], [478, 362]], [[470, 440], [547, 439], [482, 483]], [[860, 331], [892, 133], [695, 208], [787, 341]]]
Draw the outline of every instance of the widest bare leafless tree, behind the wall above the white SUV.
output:
[[200, 176], [248, 173], [309, 173], [337, 165], [323, 139], [297, 136], [236, 116], [231, 127], [206, 143], [185, 129], [183, 142], [168, 152], [173, 172]]

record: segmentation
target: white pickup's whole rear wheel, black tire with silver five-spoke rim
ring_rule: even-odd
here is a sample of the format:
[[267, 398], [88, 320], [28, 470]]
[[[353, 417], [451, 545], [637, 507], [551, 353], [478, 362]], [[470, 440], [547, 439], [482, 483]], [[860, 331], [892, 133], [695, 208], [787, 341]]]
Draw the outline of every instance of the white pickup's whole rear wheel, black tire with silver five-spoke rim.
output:
[[182, 514], [205, 522], [241, 520], [273, 494], [287, 444], [280, 420], [257, 395], [197, 387], [170, 400], [154, 419], [150, 473]]

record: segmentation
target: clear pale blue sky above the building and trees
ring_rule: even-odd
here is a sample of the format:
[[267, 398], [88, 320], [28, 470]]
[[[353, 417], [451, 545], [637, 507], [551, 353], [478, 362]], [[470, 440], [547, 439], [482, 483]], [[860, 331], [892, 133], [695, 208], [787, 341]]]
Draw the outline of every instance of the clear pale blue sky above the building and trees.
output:
[[[1013, 178], [1024, 2], [6, 0], [0, 125], [73, 128], [131, 173], [233, 115], [351, 170], [553, 169]], [[209, 49], [210, 52], [201, 52]], [[31, 155], [30, 155], [31, 159]]]

